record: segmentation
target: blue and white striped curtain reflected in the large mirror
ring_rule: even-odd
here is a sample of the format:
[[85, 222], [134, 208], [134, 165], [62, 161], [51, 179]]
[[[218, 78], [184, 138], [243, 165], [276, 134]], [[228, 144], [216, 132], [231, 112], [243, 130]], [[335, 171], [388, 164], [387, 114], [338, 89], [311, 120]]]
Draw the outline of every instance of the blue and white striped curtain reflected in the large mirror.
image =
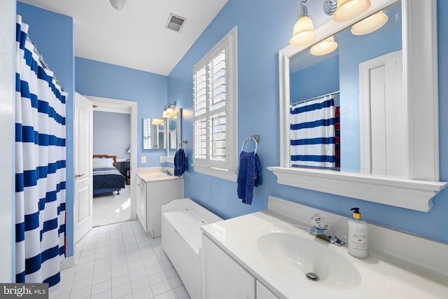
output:
[[335, 104], [323, 97], [290, 104], [290, 167], [335, 167]]

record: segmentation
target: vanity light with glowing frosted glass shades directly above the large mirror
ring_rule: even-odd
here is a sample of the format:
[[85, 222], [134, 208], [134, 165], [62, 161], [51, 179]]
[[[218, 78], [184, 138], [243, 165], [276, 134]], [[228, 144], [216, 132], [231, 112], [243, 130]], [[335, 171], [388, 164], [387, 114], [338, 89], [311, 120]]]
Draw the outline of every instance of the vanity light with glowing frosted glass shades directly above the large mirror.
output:
[[[290, 38], [291, 46], [306, 46], [316, 40], [314, 25], [308, 15], [307, 2], [300, 3], [297, 21], [293, 29], [293, 37]], [[335, 22], [346, 22], [365, 13], [372, 3], [370, 0], [325, 0], [323, 11], [326, 15], [332, 15]]]

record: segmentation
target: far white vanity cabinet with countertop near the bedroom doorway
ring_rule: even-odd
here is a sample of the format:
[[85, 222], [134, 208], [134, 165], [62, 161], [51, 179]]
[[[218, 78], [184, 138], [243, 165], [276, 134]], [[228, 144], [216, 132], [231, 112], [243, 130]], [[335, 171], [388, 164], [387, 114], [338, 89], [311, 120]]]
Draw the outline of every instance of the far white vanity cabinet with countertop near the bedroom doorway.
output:
[[162, 205], [183, 198], [183, 178], [160, 173], [137, 175], [137, 218], [153, 238], [160, 237]]

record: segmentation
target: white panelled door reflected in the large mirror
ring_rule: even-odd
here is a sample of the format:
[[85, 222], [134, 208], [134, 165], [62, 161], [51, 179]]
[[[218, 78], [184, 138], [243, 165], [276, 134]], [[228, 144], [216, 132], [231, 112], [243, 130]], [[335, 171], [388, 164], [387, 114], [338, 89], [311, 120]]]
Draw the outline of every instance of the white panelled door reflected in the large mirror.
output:
[[[360, 64], [361, 172], [404, 177], [405, 99], [402, 52]], [[370, 137], [370, 138], [368, 138]]]

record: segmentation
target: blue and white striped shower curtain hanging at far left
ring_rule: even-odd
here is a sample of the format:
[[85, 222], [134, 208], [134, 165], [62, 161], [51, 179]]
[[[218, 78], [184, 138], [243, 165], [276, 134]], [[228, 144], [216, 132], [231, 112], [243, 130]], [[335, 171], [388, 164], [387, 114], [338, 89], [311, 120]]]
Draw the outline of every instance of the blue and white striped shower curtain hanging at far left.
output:
[[65, 237], [66, 92], [45, 70], [17, 18], [15, 110], [16, 282], [60, 281]]

